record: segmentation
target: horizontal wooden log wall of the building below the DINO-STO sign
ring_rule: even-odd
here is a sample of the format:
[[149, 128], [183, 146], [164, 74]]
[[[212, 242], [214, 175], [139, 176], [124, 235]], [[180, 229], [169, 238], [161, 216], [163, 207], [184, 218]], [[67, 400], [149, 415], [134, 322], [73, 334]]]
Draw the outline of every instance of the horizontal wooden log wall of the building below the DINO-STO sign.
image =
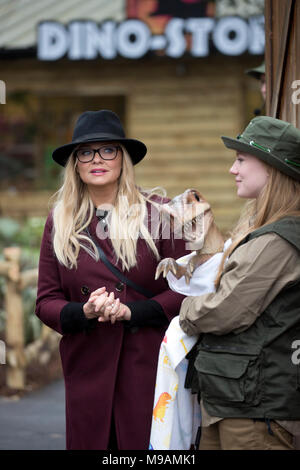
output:
[[[245, 127], [245, 82], [251, 79], [244, 71], [260, 60], [20, 60], [8, 61], [5, 69], [0, 66], [0, 72], [8, 96], [22, 85], [22, 90], [43, 100], [81, 96], [90, 103], [94, 97], [95, 110], [106, 107], [109, 97], [114, 102], [117, 97], [125, 100], [127, 134], [148, 147], [148, 156], [136, 166], [138, 184], [162, 186], [170, 197], [190, 187], [198, 189], [210, 201], [218, 225], [226, 232], [236, 222], [243, 201], [236, 197], [234, 178], [228, 173], [234, 153], [224, 147], [220, 137], [234, 137]], [[42, 117], [43, 109], [38, 119]], [[46, 214], [48, 199], [45, 192], [42, 194]], [[41, 201], [36, 198], [36, 204]], [[33, 203], [31, 209], [34, 207]], [[0, 210], [4, 213], [3, 207]]]

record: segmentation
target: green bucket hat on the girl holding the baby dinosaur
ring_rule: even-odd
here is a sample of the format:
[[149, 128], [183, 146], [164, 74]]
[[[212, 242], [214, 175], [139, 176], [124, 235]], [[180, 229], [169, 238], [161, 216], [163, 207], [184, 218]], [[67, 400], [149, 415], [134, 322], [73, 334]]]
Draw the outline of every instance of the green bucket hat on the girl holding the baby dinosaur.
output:
[[269, 116], [253, 118], [236, 139], [222, 136], [229, 149], [250, 153], [300, 181], [300, 130]]

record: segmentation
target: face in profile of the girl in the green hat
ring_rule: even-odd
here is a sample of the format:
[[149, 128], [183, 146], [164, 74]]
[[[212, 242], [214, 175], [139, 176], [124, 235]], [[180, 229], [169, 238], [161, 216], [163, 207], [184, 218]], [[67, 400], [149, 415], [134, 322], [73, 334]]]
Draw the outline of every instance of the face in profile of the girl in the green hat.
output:
[[229, 172], [235, 176], [237, 195], [247, 199], [256, 199], [267, 183], [266, 165], [249, 153], [236, 153], [236, 160]]

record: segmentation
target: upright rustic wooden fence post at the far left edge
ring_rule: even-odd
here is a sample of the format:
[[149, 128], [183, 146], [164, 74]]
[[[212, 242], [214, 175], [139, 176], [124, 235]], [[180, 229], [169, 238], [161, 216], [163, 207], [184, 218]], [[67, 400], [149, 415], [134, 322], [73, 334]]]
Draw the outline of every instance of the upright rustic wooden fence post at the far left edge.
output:
[[25, 387], [24, 315], [20, 291], [20, 256], [18, 247], [3, 250], [9, 269], [6, 277], [6, 383], [14, 389]]

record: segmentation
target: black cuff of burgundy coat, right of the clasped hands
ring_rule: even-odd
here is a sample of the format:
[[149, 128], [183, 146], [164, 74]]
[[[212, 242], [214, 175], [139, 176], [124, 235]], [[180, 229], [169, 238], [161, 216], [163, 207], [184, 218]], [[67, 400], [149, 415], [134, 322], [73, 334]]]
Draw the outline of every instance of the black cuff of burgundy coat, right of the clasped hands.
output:
[[167, 326], [169, 323], [162, 306], [156, 300], [136, 300], [126, 305], [131, 310], [131, 319], [124, 321], [126, 327], [159, 327]]

